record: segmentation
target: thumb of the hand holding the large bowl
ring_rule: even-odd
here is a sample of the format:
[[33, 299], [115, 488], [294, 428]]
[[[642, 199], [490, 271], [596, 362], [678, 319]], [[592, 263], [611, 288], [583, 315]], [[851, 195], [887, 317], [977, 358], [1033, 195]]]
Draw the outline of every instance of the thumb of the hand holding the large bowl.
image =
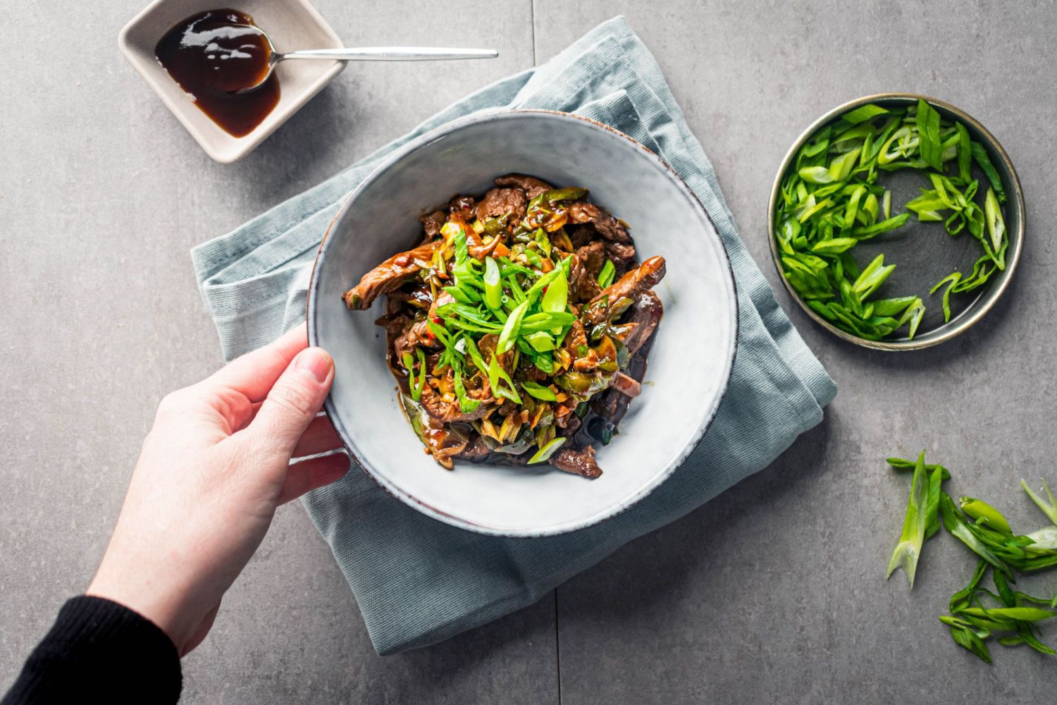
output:
[[297, 354], [272, 387], [249, 424], [262, 442], [288, 459], [319, 412], [334, 381], [334, 360], [322, 348]]

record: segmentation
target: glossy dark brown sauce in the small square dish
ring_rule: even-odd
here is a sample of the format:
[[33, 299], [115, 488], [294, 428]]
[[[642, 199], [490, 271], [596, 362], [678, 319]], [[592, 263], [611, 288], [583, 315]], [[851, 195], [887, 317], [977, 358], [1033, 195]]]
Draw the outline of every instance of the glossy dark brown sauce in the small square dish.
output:
[[225, 132], [241, 137], [261, 124], [279, 103], [279, 80], [263, 86], [271, 50], [251, 27], [254, 19], [237, 10], [192, 15], [165, 33], [154, 56], [194, 105]]

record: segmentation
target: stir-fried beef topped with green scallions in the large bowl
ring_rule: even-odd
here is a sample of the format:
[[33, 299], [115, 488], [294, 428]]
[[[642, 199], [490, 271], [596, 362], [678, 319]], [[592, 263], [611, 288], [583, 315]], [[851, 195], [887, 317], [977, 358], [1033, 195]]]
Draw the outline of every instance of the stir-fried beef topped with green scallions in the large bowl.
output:
[[[597, 478], [593, 444], [610, 442], [643, 392], [665, 261], [636, 264], [627, 226], [587, 189], [520, 173], [495, 183], [423, 216], [423, 244], [368, 272], [345, 302], [364, 310], [389, 294], [376, 321], [387, 363], [441, 465], [548, 462]], [[604, 270], [617, 277], [605, 289]]]

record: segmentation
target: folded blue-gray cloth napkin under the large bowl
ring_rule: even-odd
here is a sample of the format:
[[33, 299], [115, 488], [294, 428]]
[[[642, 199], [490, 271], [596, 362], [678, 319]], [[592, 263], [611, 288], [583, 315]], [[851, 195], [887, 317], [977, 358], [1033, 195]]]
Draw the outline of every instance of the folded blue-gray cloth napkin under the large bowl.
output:
[[670, 164], [719, 228], [738, 284], [739, 338], [716, 419], [649, 497], [595, 526], [503, 539], [434, 521], [364, 472], [304, 497], [359, 604], [379, 654], [448, 638], [526, 607], [624, 543], [663, 526], [765, 467], [822, 419], [833, 381], [778, 307], [738, 237], [711, 165], [656, 61], [623, 17], [537, 67], [457, 103], [331, 180], [191, 252], [225, 358], [304, 319], [316, 247], [338, 205], [390, 152], [463, 115], [498, 108], [585, 115], [630, 134]]

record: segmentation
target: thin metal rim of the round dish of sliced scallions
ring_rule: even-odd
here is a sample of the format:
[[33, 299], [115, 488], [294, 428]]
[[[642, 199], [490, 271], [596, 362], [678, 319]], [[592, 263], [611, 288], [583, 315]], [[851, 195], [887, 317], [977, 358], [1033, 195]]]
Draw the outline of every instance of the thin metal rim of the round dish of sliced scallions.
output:
[[[775, 237], [775, 208], [778, 205], [778, 199], [781, 193], [782, 177], [785, 175], [785, 171], [789, 169], [790, 164], [793, 163], [797, 151], [800, 147], [821, 127], [827, 123], [839, 116], [853, 108], [857, 108], [867, 103], [873, 103], [875, 100], [889, 100], [892, 98], [904, 99], [904, 100], [925, 100], [929, 105], [938, 108], [942, 108], [945, 111], [953, 114], [958, 119], [961, 119], [968, 125], [970, 125], [987, 143], [994, 153], [998, 155], [999, 160], [1005, 167], [1006, 173], [1009, 174], [1009, 186], [1014, 193], [1015, 201], [1010, 201], [1010, 208], [1016, 206], [1018, 212], [1020, 214], [1019, 226], [1016, 230], [1016, 237], [1013, 234], [1009, 236], [1009, 244], [1012, 245], [1012, 253], [1009, 253], [1005, 272], [997, 282], [997, 289], [993, 290], [993, 294], [979, 307], [975, 305], [967, 309], [960, 320], [954, 326], [945, 324], [942, 333], [930, 339], [915, 339], [915, 340], [867, 340], [866, 338], [860, 338], [856, 335], [852, 335], [847, 331], [842, 331], [830, 321], [822, 318], [818, 313], [816, 313], [808, 303], [800, 297], [800, 295], [793, 289], [785, 275], [782, 273], [781, 264], [779, 263], [781, 259], [781, 254], [778, 252], [777, 238]], [[778, 273], [778, 278], [781, 279], [782, 284], [785, 286], [785, 291], [789, 292], [790, 296], [797, 305], [808, 314], [808, 316], [814, 320], [816, 323], [824, 328], [827, 331], [833, 335], [847, 340], [849, 342], [855, 344], [863, 348], [870, 348], [873, 350], [884, 350], [887, 352], [907, 352], [911, 350], [924, 350], [925, 348], [931, 348], [932, 346], [938, 346], [941, 342], [946, 342], [950, 340], [969, 328], [977, 323], [984, 315], [994, 308], [998, 300], [1005, 293], [1006, 287], [1009, 285], [1009, 281], [1013, 279], [1013, 275], [1017, 270], [1017, 264], [1020, 262], [1020, 254], [1024, 247], [1024, 229], [1026, 220], [1026, 209], [1024, 207], [1024, 192], [1020, 186], [1020, 178], [1017, 175], [1017, 170], [1013, 166], [1013, 162], [1009, 160], [1008, 154], [999, 144], [999, 141], [995, 138], [987, 128], [985, 128], [979, 120], [969, 115], [967, 112], [953, 106], [945, 100], [940, 100], [939, 98], [933, 98], [928, 95], [923, 95], [920, 93], [874, 93], [871, 95], [864, 95], [853, 100], [848, 100], [832, 110], [827, 111], [811, 125], [808, 126], [803, 132], [793, 142], [789, 151], [785, 152], [785, 156], [782, 159], [781, 164], [778, 167], [778, 173], [775, 174], [774, 184], [771, 187], [771, 198], [767, 201], [767, 240], [771, 247], [771, 263], [775, 266], [775, 271]], [[937, 329], [940, 330], [940, 329]]]

